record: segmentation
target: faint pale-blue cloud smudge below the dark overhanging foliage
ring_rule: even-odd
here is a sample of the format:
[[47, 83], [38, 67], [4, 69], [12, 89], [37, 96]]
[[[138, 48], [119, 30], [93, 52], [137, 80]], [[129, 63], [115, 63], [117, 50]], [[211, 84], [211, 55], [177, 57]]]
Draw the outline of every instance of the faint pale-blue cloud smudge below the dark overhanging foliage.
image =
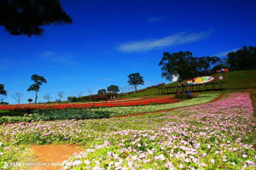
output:
[[54, 51], [45, 51], [41, 54], [41, 57], [44, 59], [49, 59], [55, 63], [64, 64], [64, 65], [75, 65], [76, 61], [74, 56], [70, 54], [56, 54]]

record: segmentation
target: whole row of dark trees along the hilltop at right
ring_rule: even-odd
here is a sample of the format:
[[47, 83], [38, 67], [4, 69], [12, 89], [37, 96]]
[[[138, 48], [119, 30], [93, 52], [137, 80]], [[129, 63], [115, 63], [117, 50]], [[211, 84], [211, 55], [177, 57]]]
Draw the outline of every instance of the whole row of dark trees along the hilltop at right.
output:
[[230, 71], [256, 69], [256, 48], [243, 47], [236, 52], [230, 52], [223, 60], [216, 56], [194, 57], [189, 51], [172, 54], [165, 52], [159, 65], [162, 66], [162, 77], [169, 81], [178, 77], [178, 82], [183, 86], [184, 80], [215, 73], [221, 68], [228, 68]]

